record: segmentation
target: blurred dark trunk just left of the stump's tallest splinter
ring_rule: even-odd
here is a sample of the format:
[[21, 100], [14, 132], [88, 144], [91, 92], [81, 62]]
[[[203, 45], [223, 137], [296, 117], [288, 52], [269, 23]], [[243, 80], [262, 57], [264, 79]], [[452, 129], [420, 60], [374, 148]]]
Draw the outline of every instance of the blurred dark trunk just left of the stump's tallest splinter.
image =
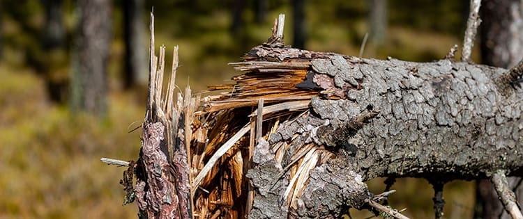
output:
[[145, 40], [143, 0], [122, 1], [123, 7], [123, 40], [126, 44], [124, 56], [124, 88], [147, 83], [146, 53], [142, 49]]

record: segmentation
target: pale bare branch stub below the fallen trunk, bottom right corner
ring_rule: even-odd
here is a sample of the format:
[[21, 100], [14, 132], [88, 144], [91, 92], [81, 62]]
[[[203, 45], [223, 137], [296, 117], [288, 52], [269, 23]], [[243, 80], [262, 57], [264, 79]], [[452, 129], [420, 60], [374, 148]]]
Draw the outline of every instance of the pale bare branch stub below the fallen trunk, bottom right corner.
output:
[[520, 206], [517, 205], [516, 196], [514, 192], [508, 188], [505, 170], [494, 172], [490, 180], [492, 181], [492, 184], [494, 184], [499, 200], [501, 200], [507, 213], [510, 214], [512, 218], [523, 219]]

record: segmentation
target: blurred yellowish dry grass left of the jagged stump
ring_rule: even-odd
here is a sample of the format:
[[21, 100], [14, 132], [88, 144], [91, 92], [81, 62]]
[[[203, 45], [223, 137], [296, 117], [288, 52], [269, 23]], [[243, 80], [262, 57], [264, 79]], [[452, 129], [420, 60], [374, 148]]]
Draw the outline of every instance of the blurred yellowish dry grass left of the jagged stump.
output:
[[109, 117], [70, 115], [46, 101], [32, 72], [1, 67], [0, 218], [135, 218], [122, 207], [123, 169], [101, 156], [135, 159], [143, 111], [127, 94], [113, 94]]

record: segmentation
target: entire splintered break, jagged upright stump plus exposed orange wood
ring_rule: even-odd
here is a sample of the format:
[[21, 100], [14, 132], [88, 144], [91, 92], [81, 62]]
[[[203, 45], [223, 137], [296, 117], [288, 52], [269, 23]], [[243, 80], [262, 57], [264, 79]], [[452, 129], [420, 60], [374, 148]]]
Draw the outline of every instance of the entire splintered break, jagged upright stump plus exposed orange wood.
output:
[[[303, 115], [310, 99], [319, 95], [317, 89], [298, 86], [307, 78], [310, 60], [248, 54], [241, 63], [229, 63], [243, 73], [232, 78], [233, 84], [210, 86], [209, 90], [222, 94], [200, 98], [189, 87], [183, 94], [174, 89], [178, 47], [174, 47], [167, 89], [163, 88], [166, 48], [160, 47], [156, 56], [153, 29], [151, 14], [142, 154], [137, 165], [130, 167], [137, 172], [140, 216], [245, 218], [255, 205], [255, 188], [245, 175], [253, 168], [256, 145], [266, 144], [283, 122]], [[273, 35], [260, 47], [282, 45], [282, 35]], [[271, 148], [278, 165], [285, 166], [279, 178], [289, 177], [286, 202], [294, 207], [310, 170], [331, 156], [322, 147], [302, 146], [282, 142]], [[290, 147], [297, 148], [288, 153]]]

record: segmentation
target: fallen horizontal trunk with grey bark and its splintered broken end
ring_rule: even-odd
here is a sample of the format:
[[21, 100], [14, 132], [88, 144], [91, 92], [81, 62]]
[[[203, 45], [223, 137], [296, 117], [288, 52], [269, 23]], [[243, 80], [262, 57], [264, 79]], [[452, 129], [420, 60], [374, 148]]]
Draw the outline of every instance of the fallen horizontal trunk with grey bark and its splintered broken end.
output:
[[[231, 65], [245, 74], [233, 78], [235, 85], [211, 87], [232, 91], [206, 98], [197, 113], [215, 118], [204, 122], [209, 133], [221, 130], [209, 135], [218, 143], [192, 149], [204, 158], [193, 167], [214, 167], [199, 168], [208, 179], [193, 181], [206, 191], [195, 196], [205, 203], [197, 211], [219, 209], [225, 218], [224, 211], [243, 212], [246, 183], [235, 171], [247, 172], [256, 191], [250, 218], [338, 218], [350, 207], [373, 209], [364, 181], [375, 177], [444, 182], [490, 178], [497, 170], [522, 174], [523, 92], [507, 70], [448, 59], [363, 59], [279, 43], [255, 47]], [[206, 162], [232, 134], [248, 132], [258, 99], [265, 104], [264, 138], [254, 147], [253, 168], [231, 164], [249, 161], [242, 151], [253, 147], [247, 136], [225, 147], [222, 163]], [[224, 204], [229, 208], [213, 204], [222, 200], [212, 195], [218, 188], [236, 195]]]

